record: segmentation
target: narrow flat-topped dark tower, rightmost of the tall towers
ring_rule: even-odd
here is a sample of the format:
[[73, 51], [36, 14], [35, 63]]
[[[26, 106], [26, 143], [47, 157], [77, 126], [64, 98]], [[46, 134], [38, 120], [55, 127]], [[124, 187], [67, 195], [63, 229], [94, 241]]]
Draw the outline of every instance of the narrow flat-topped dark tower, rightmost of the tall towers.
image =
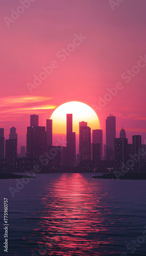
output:
[[139, 170], [141, 169], [141, 156], [140, 156], [140, 150], [141, 150], [141, 136], [140, 135], [133, 135], [132, 136], [132, 144], [133, 144], [133, 149], [134, 149], [134, 162], [135, 162], [135, 166], [134, 169], [135, 170]]

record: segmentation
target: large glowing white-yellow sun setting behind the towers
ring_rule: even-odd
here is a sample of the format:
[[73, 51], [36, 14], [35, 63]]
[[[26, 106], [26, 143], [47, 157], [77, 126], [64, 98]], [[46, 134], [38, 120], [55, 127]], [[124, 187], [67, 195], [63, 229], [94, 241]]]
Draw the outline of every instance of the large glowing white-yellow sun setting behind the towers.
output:
[[53, 112], [53, 134], [66, 134], [66, 114], [72, 114], [73, 132], [79, 134], [79, 122], [85, 121], [94, 129], [100, 129], [100, 121], [95, 111], [87, 104], [79, 101], [69, 101]]

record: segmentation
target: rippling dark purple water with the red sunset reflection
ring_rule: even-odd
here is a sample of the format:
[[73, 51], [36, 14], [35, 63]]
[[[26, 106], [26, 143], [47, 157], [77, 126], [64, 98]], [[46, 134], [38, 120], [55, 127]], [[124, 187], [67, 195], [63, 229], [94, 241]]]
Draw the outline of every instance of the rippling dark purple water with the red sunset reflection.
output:
[[[146, 181], [91, 175], [37, 174], [14, 198], [9, 187], [16, 188], [17, 180], [0, 180], [0, 255], [146, 255]], [[4, 197], [9, 199], [8, 253], [3, 249]]]

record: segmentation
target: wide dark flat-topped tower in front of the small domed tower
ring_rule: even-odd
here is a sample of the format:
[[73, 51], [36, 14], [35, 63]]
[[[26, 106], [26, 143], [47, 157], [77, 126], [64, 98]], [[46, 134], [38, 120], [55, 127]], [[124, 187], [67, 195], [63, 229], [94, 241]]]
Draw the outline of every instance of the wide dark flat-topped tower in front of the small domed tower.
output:
[[120, 170], [127, 164], [128, 160], [128, 139], [114, 139], [114, 161], [115, 169]]

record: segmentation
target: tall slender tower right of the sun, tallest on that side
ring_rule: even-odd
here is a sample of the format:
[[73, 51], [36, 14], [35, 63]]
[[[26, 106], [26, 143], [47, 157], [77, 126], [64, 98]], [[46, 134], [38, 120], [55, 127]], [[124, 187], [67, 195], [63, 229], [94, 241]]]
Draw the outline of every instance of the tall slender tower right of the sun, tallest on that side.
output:
[[106, 160], [114, 159], [114, 139], [116, 138], [115, 116], [106, 119]]

